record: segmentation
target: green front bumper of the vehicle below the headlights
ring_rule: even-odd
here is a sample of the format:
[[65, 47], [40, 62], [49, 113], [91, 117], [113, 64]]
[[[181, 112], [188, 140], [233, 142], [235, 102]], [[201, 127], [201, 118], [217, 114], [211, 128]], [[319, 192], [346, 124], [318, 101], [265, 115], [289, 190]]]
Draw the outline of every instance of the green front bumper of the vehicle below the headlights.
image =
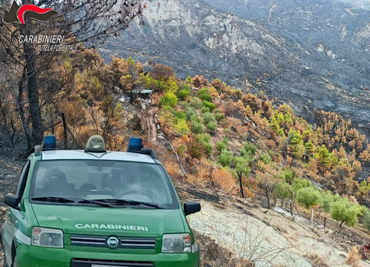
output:
[[198, 267], [199, 250], [195, 253], [147, 255], [71, 251], [19, 244], [17, 260], [19, 267]]

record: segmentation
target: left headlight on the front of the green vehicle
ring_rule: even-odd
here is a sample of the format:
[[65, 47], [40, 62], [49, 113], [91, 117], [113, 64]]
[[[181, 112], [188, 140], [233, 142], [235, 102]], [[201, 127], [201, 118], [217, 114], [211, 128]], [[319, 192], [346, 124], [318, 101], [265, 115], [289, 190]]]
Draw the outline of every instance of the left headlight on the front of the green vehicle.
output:
[[63, 248], [63, 231], [59, 229], [33, 227], [31, 244], [40, 247]]

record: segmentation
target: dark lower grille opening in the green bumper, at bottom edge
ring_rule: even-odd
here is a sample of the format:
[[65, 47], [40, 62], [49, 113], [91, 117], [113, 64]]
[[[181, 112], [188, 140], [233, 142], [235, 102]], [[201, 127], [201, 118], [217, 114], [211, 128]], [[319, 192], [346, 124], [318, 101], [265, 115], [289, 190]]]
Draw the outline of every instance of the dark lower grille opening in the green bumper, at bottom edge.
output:
[[154, 267], [154, 263], [149, 261], [118, 261], [118, 260], [91, 260], [91, 259], [73, 259], [71, 261], [71, 267], [92, 267], [92, 266]]

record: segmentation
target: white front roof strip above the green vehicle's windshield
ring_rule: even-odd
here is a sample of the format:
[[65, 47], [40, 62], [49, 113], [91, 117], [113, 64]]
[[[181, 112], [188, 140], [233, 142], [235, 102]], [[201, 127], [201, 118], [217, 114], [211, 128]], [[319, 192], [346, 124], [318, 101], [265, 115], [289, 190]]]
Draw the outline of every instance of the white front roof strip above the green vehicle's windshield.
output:
[[106, 153], [86, 153], [83, 150], [49, 150], [41, 152], [41, 160], [121, 160], [155, 163], [149, 156], [140, 153], [107, 151]]

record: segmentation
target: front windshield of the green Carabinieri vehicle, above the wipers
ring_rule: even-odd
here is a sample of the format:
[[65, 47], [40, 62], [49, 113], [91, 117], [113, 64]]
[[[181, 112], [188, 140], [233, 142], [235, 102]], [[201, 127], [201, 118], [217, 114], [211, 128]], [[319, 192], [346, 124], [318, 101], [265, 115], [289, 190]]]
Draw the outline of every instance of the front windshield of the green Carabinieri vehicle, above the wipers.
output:
[[[163, 168], [142, 162], [38, 161], [30, 199], [48, 201], [52, 198], [73, 199], [76, 202], [84, 199], [128, 200], [155, 204], [161, 208], [178, 208], [174, 190]], [[92, 202], [83, 203], [79, 205], [91, 205]]]

